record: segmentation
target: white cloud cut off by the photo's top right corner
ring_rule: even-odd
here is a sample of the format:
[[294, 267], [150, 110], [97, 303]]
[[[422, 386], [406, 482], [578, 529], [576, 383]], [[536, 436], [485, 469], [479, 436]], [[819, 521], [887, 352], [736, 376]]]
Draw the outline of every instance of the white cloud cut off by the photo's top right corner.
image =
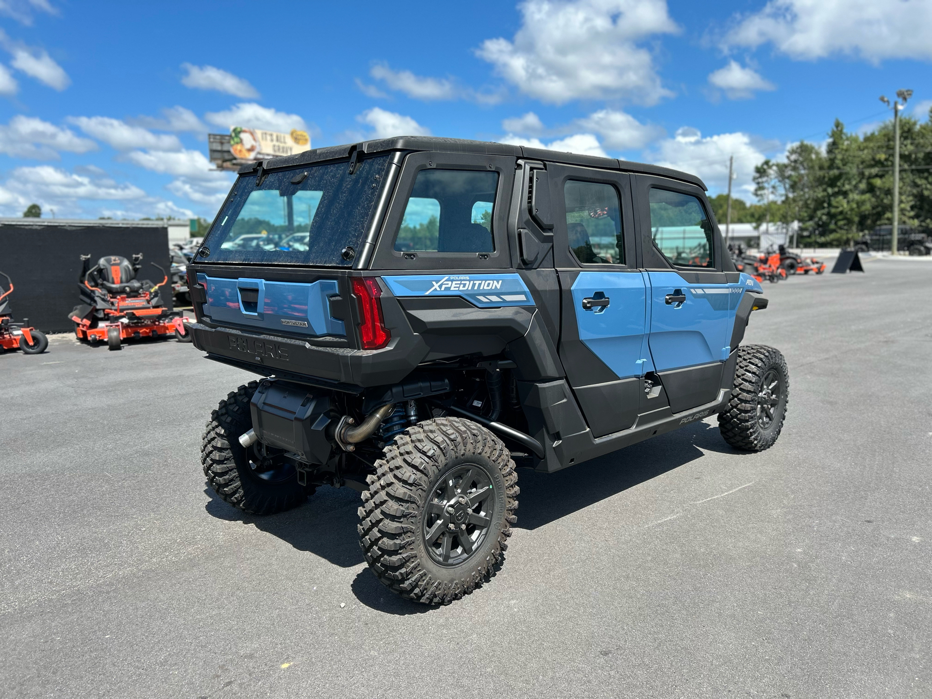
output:
[[770, 0], [759, 12], [738, 18], [723, 48], [771, 43], [797, 60], [833, 54], [870, 62], [932, 59], [932, 3], [927, 0]]

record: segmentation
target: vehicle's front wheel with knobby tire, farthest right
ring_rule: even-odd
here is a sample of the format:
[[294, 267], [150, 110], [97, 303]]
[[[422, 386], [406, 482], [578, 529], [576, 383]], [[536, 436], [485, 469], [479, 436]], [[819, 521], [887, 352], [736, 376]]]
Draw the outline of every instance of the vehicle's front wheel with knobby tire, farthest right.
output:
[[783, 429], [789, 400], [787, 362], [766, 345], [742, 345], [734, 370], [732, 397], [719, 413], [719, 430], [742, 451], [763, 451]]

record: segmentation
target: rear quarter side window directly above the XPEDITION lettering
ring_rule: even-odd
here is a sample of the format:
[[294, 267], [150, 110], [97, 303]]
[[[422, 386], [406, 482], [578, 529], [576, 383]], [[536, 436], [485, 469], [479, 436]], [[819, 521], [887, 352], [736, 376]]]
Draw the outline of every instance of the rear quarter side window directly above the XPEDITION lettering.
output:
[[492, 212], [499, 173], [422, 170], [404, 207], [395, 250], [493, 253]]

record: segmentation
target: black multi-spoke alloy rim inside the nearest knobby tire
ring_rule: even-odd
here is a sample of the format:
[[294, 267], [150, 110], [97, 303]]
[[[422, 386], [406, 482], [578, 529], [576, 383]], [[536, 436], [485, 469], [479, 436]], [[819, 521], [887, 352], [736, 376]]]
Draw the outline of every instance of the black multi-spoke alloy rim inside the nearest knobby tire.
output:
[[480, 548], [495, 520], [492, 478], [475, 463], [444, 473], [433, 488], [421, 526], [428, 555], [459, 566]]

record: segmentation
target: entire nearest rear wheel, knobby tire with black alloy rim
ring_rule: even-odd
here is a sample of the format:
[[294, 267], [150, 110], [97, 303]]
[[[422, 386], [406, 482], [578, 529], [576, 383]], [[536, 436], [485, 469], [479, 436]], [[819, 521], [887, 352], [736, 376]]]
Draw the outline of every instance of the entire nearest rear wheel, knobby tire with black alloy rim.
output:
[[376, 468], [359, 535], [379, 581], [408, 599], [449, 604], [495, 574], [519, 492], [498, 437], [466, 419], [425, 420], [398, 435]]

